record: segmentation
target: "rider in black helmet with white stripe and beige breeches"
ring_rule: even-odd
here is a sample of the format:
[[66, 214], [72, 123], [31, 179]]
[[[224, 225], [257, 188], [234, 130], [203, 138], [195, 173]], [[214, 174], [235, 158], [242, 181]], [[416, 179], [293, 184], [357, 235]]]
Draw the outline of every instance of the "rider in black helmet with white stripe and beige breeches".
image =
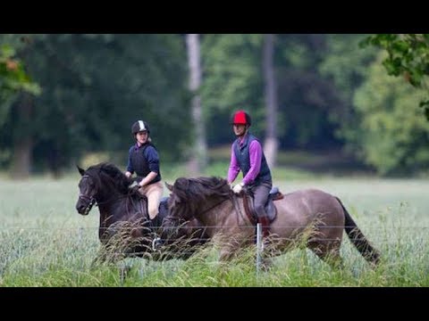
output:
[[131, 177], [134, 172], [137, 174], [139, 193], [147, 196], [149, 218], [154, 219], [158, 215], [159, 203], [164, 192], [158, 152], [149, 137], [150, 130], [146, 121], [138, 120], [132, 124], [131, 133], [136, 139], [136, 144], [130, 146], [125, 175]]

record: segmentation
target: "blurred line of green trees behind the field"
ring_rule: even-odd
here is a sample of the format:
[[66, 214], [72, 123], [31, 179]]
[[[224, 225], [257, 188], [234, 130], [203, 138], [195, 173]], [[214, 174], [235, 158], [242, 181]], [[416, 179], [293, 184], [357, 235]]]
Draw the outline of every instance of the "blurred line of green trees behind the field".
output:
[[58, 176], [93, 151], [124, 163], [130, 125], [144, 119], [163, 161], [198, 171], [207, 147], [231, 144], [231, 113], [245, 109], [273, 164], [279, 150], [341, 149], [381, 175], [419, 172], [427, 70], [405, 65], [411, 47], [400, 58], [418, 86], [391, 77], [404, 70], [383, 69], [391, 47], [380, 37], [0, 35], [0, 169]]

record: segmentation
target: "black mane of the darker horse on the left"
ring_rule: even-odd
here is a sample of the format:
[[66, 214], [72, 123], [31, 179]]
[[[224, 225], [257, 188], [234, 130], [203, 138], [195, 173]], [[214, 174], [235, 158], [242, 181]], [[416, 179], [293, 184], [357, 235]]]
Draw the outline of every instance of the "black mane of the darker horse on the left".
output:
[[101, 162], [90, 166], [85, 174], [96, 179], [97, 185], [107, 184], [110, 186], [106, 187], [114, 187], [121, 193], [129, 193], [130, 179], [110, 162]]

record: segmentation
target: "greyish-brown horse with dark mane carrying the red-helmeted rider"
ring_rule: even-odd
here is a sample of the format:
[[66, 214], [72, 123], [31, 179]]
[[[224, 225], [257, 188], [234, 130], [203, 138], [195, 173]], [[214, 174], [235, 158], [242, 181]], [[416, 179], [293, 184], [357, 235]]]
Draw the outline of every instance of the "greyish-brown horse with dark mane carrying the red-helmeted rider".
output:
[[[236, 196], [220, 177], [176, 179], [167, 185], [172, 191], [165, 226], [197, 218], [207, 226], [206, 234], [221, 243], [220, 259], [231, 259], [243, 246], [254, 243], [255, 227], [246, 215], [243, 197]], [[340, 199], [317, 189], [299, 190], [274, 201], [277, 216], [271, 223], [272, 255], [279, 255], [302, 242], [329, 263], [341, 265], [343, 230], [362, 256], [375, 266], [378, 251], [366, 240]]]

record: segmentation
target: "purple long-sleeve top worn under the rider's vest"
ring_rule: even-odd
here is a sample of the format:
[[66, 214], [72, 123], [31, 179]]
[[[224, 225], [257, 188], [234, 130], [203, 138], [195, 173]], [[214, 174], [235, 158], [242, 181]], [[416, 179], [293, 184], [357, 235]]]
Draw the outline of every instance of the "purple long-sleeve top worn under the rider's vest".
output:
[[[242, 140], [240, 141], [240, 144], [242, 144]], [[232, 183], [237, 175], [239, 175], [240, 172], [240, 165], [237, 161], [237, 158], [235, 157], [234, 153], [234, 145], [231, 146], [231, 163], [230, 163], [230, 169], [228, 169], [228, 182]], [[255, 178], [257, 178], [257, 175], [259, 174], [259, 171], [261, 169], [261, 162], [262, 162], [262, 146], [259, 144], [259, 142], [255, 139], [253, 140], [250, 145], [248, 146], [248, 153], [249, 153], [249, 159], [250, 159], [250, 169], [248, 169], [248, 175], [243, 177], [243, 183], [245, 185], [253, 183]]]

